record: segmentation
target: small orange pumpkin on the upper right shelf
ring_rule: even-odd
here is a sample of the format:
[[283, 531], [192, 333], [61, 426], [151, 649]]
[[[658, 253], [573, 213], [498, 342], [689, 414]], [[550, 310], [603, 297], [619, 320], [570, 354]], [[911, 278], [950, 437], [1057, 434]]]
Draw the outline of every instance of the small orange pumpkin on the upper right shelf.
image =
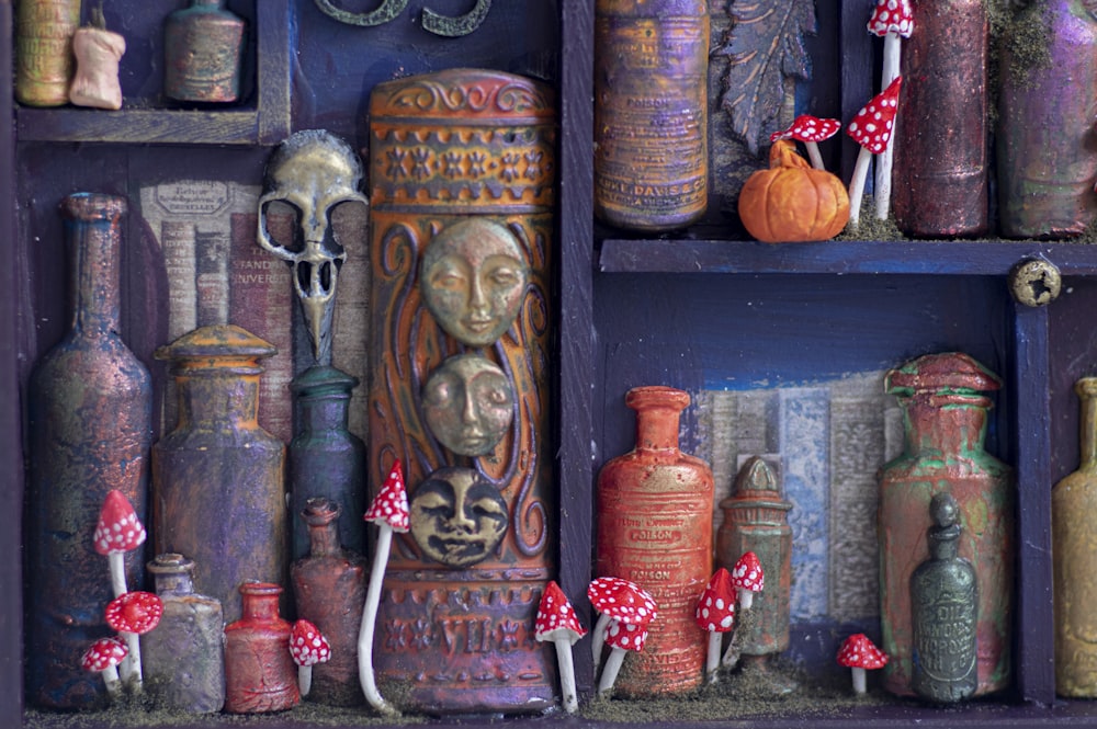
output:
[[780, 139], [769, 150], [769, 169], [743, 185], [739, 218], [767, 243], [827, 240], [849, 221], [849, 195], [841, 180], [814, 169], [793, 141]]

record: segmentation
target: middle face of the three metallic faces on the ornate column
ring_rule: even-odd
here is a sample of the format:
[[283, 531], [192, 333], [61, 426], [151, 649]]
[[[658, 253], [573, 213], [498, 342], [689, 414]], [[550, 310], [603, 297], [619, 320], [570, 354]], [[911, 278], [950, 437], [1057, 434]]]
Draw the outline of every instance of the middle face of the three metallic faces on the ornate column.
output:
[[450, 357], [422, 389], [427, 426], [453, 453], [483, 456], [514, 420], [514, 391], [495, 363], [474, 354]]

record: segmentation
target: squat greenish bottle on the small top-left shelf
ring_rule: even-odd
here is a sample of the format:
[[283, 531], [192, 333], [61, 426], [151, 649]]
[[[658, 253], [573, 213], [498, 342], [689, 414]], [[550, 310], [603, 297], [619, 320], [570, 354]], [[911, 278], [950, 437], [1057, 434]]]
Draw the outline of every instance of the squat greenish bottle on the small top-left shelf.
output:
[[225, 0], [191, 0], [163, 25], [163, 93], [179, 101], [229, 103], [240, 96], [246, 23]]

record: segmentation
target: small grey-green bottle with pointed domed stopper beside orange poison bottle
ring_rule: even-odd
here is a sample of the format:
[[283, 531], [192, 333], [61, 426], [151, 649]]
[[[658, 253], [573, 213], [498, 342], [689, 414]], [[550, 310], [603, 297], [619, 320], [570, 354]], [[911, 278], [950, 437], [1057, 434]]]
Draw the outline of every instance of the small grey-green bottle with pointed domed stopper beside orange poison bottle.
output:
[[731, 570], [744, 554], [761, 561], [766, 589], [754, 596], [754, 619], [739, 620], [743, 656], [769, 656], [789, 647], [792, 604], [792, 502], [781, 498], [773, 469], [751, 456], [739, 469], [732, 494], [720, 502], [724, 521], [716, 532], [716, 565]]

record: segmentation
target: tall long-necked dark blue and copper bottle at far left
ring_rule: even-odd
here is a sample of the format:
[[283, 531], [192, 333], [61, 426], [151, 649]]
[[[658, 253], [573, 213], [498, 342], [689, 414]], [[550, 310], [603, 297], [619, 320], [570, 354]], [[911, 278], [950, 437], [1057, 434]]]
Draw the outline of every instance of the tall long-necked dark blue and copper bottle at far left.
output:
[[[105, 697], [80, 657], [111, 634], [103, 607], [114, 593], [92, 544], [106, 493], [122, 491], [147, 523], [152, 385], [117, 334], [125, 212], [124, 198], [94, 193], [61, 204], [72, 318], [27, 386], [26, 690], [50, 708]], [[132, 588], [143, 562], [143, 548], [126, 556]]]

